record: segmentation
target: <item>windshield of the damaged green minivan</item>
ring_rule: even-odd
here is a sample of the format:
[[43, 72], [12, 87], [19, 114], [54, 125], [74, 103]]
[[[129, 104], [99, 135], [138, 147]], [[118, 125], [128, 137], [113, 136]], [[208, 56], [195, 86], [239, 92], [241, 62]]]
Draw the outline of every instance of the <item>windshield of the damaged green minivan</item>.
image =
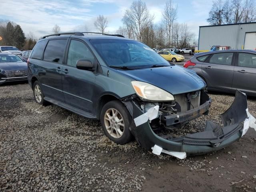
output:
[[90, 40], [108, 66], [170, 66], [154, 50], [133, 40]]

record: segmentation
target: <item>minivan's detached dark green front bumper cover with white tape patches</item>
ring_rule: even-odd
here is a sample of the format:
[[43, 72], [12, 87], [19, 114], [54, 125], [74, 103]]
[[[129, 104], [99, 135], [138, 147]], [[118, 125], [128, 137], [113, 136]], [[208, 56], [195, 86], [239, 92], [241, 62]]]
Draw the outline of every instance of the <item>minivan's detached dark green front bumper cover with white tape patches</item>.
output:
[[[156, 118], [159, 119], [159, 106], [150, 108], [146, 113], [134, 101], [126, 102], [126, 106], [132, 112], [134, 121], [130, 130], [138, 143], [147, 150], [153, 149], [155, 154], [164, 152], [178, 158], [220, 150], [239, 140], [249, 126], [253, 127], [255, 125], [255, 118], [250, 115], [247, 109], [246, 95], [240, 91], [236, 91], [236, 97], [230, 108], [220, 115], [224, 127], [212, 121], [207, 121], [204, 131], [178, 138], [166, 135], [158, 136], [153, 131], [154, 128], [150, 126]], [[206, 104], [206, 106], [209, 105]], [[201, 112], [207, 111], [208, 107], [203, 106]], [[186, 112], [184, 118], [185, 116]], [[189, 116], [191, 117], [191, 114]], [[243, 125], [242, 122], [244, 121], [246, 123]], [[168, 122], [168, 118], [166, 122]], [[256, 125], [254, 128], [256, 129]]]

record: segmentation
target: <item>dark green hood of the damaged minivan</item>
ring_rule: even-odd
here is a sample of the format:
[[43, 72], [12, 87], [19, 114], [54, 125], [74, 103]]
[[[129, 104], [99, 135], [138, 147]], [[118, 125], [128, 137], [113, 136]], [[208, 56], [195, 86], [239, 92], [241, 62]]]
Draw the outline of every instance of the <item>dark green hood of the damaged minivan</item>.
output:
[[176, 65], [119, 71], [134, 80], [150, 83], [173, 95], [200, 90], [206, 86], [193, 71]]

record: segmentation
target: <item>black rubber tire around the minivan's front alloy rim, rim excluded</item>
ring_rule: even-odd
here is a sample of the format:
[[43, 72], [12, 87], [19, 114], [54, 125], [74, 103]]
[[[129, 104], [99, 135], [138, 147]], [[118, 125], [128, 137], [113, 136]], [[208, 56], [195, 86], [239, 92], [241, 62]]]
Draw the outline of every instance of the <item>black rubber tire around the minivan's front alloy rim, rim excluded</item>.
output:
[[[108, 133], [108, 130], [105, 126], [105, 113], [112, 108], [117, 110], [123, 118], [124, 128], [122, 129], [123, 133], [120, 138], [114, 138], [113, 136], [111, 136]], [[103, 106], [101, 113], [100, 113], [100, 122], [101, 122], [102, 130], [103, 130], [104, 134], [110, 140], [114, 141], [115, 143], [122, 145], [122, 144], [126, 144], [132, 140], [132, 134], [129, 129], [130, 124], [132, 122], [132, 117], [130, 116], [130, 113], [128, 112], [127, 108], [120, 101], [118, 101], [118, 100], [110, 101]], [[107, 120], [107, 122], [109, 122], [109, 121]], [[113, 131], [113, 132], [116, 132], [116, 131]]]

